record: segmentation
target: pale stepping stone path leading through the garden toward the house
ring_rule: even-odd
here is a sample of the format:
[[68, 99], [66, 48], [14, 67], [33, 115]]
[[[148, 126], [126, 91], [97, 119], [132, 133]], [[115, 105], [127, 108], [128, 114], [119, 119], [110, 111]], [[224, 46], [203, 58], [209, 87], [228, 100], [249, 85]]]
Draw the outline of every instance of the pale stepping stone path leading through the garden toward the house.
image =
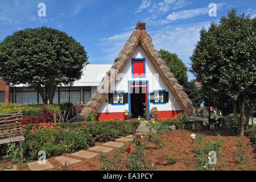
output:
[[[102, 144], [103, 146], [96, 146], [96, 147], [88, 148], [88, 150], [106, 153], [106, 152], [114, 150], [114, 148], [110, 148], [110, 147], [122, 147], [125, 143], [121, 143], [121, 142], [129, 142], [129, 141], [132, 141], [133, 138], [134, 138], [134, 135], [128, 135], [127, 137], [121, 137], [121, 138], [116, 139], [116, 141], [118, 141], [118, 142], [107, 142], [107, 143]], [[104, 146], [110, 146], [110, 147], [104, 147]], [[81, 151], [75, 152], [71, 155], [74, 157], [90, 159], [90, 158], [93, 158], [94, 156], [99, 155], [96, 152], [89, 152], [89, 151], [81, 150]], [[79, 159], [68, 158], [65, 156], [59, 156], [55, 159], [63, 165], [65, 164], [65, 162], [67, 162], [67, 164], [75, 164], [75, 163], [81, 162], [81, 160], [79, 160]], [[42, 171], [45, 169], [53, 168], [52, 164], [49, 163], [48, 160], [46, 160], [46, 164], [40, 165], [38, 163], [38, 161], [36, 161], [36, 162], [27, 163], [27, 166], [30, 168], [31, 171]], [[16, 171], [16, 170], [17, 170], [16, 166], [14, 166], [13, 169], [5, 169], [5, 171]]]

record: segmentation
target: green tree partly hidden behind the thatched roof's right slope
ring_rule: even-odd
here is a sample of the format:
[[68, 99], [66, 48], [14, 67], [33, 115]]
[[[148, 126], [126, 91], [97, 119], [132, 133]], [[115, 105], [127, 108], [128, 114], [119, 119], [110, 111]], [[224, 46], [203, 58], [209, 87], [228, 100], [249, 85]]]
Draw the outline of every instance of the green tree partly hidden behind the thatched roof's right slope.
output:
[[199, 107], [203, 100], [196, 88], [195, 81], [188, 81], [188, 68], [185, 66], [183, 61], [179, 59], [176, 53], [170, 53], [163, 49], [160, 49], [159, 53], [162, 59], [166, 61], [167, 67], [170, 68], [172, 73], [174, 73], [179, 84], [183, 86], [184, 92], [188, 94], [193, 106]]

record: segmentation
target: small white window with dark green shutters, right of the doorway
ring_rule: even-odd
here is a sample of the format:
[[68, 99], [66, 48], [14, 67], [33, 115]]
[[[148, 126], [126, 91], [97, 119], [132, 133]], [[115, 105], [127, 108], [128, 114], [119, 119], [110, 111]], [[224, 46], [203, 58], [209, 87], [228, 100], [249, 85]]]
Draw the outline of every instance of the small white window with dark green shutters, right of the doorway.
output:
[[166, 104], [169, 101], [169, 93], [166, 90], [153, 90], [150, 93], [150, 102], [153, 104]]

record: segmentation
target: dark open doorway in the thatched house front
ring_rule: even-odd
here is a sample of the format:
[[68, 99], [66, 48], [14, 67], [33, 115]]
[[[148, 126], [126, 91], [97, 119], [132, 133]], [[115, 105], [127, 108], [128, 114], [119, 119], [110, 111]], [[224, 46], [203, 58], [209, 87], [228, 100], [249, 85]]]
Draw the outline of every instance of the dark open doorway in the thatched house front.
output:
[[130, 86], [131, 117], [138, 118], [144, 115], [144, 105], [146, 102], [146, 82], [133, 82]]

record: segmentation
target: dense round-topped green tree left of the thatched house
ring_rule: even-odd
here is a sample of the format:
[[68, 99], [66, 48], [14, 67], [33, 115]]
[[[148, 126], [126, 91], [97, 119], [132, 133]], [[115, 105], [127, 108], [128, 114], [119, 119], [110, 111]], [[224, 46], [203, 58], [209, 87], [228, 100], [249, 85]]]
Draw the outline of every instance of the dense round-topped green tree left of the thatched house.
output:
[[0, 78], [31, 86], [45, 104], [52, 104], [57, 85], [81, 78], [87, 61], [79, 42], [53, 28], [27, 28], [0, 42]]

